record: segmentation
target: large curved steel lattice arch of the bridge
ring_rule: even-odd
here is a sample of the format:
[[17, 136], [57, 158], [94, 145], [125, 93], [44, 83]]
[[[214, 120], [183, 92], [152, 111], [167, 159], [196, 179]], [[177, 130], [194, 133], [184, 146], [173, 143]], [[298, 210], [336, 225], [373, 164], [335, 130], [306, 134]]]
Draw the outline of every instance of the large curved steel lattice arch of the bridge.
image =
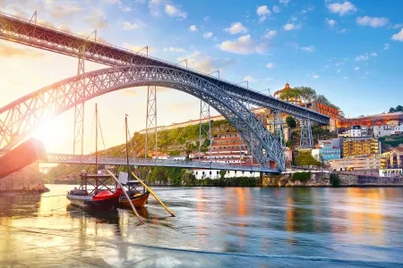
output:
[[[268, 166], [274, 161], [279, 171], [285, 170], [283, 150], [277, 139], [236, 98], [200, 76], [160, 66], [121, 66], [91, 71], [21, 97], [0, 109], [0, 147], [12, 148], [28, 138], [40, 121], [54, 118], [90, 98], [141, 86], [175, 88], [209, 103], [241, 134], [253, 149], [258, 163]], [[77, 90], [84, 93], [79, 100], [74, 99]]]

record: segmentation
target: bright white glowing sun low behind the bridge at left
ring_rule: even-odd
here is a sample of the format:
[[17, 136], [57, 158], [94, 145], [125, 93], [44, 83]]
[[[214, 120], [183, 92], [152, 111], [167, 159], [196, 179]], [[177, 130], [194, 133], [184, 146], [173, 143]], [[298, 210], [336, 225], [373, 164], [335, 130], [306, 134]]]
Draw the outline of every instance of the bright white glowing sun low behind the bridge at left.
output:
[[[41, 140], [47, 153], [65, 153], [66, 149], [73, 145], [73, 130], [69, 132], [63, 121], [47, 120], [40, 123], [39, 128], [34, 131], [32, 137]], [[71, 134], [71, 135], [68, 135]], [[70, 144], [70, 147], [68, 145]]]

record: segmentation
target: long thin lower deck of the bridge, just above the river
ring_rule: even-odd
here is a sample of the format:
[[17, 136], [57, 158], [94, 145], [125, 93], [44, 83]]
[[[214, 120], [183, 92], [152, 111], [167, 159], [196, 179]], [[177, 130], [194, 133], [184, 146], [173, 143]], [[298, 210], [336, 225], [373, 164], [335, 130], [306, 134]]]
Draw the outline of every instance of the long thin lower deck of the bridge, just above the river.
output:
[[[63, 155], [63, 154], [47, 154], [46, 163], [76, 163], [76, 164], [94, 164], [94, 155]], [[127, 163], [125, 157], [106, 157], [99, 156], [99, 164], [107, 165], [124, 165]], [[214, 163], [184, 160], [167, 160], [167, 159], [150, 159], [150, 158], [132, 158], [129, 160], [130, 165], [139, 166], [167, 166], [167, 167], [183, 167], [192, 169], [214, 169], [227, 171], [250, 171], [250, 172], [268, 172], [278, 173], [278, 169], [264, 166], [249, 166], [230, 163]]]

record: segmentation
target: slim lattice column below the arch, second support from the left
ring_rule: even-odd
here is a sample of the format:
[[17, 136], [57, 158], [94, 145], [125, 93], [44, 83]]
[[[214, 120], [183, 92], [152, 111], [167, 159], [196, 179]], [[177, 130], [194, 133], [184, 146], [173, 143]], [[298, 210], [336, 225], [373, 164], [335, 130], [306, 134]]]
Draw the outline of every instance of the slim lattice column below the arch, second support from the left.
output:
[[154, 148], [154, 154], [158, 154], [158, 136], [157, 136], [157, 87], [147, 87], [147, 115], [146, 115], [146, 134], [144, 144], [144, 157], [149, 156], [150, 149]]

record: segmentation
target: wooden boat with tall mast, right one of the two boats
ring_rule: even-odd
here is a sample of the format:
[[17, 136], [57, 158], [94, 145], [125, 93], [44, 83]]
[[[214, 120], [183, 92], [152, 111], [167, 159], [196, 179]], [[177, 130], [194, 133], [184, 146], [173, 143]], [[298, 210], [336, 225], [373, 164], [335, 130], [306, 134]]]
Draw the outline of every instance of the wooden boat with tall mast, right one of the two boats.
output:
[[[128, 148], [128, 128], [127, 128], [127, 114], [125, 115], [124, 118], [124, 127], [126, 130], [126, 162], [127, 162], [127, 171], [130, 171], [130, 165], [129, 165], [129, 148]], [[134, 207], [136, 208], [141, 208], [144, 207], [149, 200], [150, 192], [144, 188], [141, 183], [137, 180], [130, 180], [131, 175], [130, 172], [119, 172], [119, 182], [123, 186], [123, 190], [126, 191], [128, 197], [130, 197], [130, 200], [132, 201]], [[124, 207], [124, 208], [131, 208], [132, 206], [130, 205], [129, 200], [127, 200], [127, 197], [124, 196], [124, 194], [121, 195], [120, 200], [119, 200], [119, 206]]]

